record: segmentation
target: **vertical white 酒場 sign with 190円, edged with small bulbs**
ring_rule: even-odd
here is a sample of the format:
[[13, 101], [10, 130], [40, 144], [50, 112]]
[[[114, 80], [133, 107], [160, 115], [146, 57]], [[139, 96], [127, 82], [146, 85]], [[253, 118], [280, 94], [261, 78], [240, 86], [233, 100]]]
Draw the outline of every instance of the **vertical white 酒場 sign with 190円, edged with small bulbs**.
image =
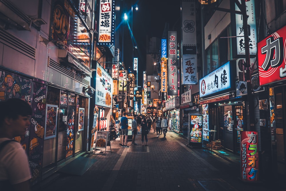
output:
[[114, 42], [114, 3], [113, 0], [100, 0], [98, 44], [111, 45]]

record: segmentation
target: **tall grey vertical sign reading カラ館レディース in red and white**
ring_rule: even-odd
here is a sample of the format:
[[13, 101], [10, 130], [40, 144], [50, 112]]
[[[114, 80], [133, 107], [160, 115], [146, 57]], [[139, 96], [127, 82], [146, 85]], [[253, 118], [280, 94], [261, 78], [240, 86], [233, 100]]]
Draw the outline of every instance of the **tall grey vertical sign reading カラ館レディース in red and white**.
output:
[[178, 96], [177, 31], [168, 31], [168, 95]]

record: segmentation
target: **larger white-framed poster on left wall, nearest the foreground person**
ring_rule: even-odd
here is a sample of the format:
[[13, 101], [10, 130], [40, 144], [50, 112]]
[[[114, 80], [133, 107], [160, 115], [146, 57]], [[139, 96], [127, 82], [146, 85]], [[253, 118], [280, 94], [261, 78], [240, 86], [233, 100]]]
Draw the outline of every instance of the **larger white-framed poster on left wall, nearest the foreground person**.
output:
[[45, 139], [56, 137], [57, 105], [46, 106]]

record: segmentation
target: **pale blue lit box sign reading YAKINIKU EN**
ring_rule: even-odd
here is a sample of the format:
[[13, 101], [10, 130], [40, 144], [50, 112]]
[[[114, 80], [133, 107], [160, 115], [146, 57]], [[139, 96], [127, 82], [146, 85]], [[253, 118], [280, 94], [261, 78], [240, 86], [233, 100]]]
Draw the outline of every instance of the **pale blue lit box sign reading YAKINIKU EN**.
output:
[[200, 97], [231, 88], [230, 62], [200, 79]]

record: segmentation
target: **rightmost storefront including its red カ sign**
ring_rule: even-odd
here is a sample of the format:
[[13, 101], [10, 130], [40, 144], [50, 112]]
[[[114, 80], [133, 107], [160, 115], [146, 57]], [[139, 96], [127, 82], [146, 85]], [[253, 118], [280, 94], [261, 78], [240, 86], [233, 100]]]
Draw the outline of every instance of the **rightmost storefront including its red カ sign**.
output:
[[[264, 114], [259, 122], [261, 128], [265, 129], [265, 132], [271, 136], [271, 150], [269, 150], [269, 153], [272, 153], [273, 164], [271, 174], [285, 174], [286, 172], [286, 136], [284, 134], [286, 130], [285, 34], [286, 26], [257, 44], [259, 85], [265, 86], [265, 89], [269, 86], [267, 88], [269, 97], [266, 95], [265, 97], [259, 96], [259, 111]], [[271, 50], [275, 50], [275, 52]]]

